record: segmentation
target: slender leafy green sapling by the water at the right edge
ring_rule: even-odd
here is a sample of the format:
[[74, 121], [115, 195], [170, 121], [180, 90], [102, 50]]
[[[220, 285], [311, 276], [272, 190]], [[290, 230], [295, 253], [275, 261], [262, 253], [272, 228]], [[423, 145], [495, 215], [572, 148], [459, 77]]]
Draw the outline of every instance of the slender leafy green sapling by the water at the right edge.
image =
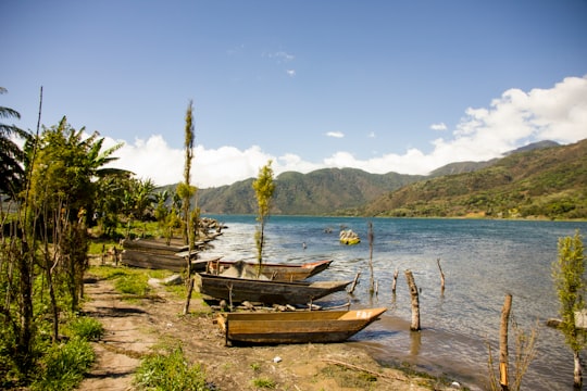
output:
[[573, 237], [559, 239], [559, 258], [552, 265], [552, 278], [560, 302], [560, 326], [565, 343], [573, 351], [575, 363], [574, 386], [583, 384], [579, 353], [586, 345], [585, 331], [577, 329], [575, 312], [584, 308], [585, 297], [585, 256], [583, 240], [578, 230]]

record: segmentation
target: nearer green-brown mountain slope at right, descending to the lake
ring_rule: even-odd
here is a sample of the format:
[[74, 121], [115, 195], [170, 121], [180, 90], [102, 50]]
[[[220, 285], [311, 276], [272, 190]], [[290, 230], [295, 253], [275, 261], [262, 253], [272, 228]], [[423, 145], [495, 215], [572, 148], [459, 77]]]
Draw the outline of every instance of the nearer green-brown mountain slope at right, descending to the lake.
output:
[[473, 172], [434, 177], [357, 211], [369, 216], [587, 217], [587, 139], [513, 151]]

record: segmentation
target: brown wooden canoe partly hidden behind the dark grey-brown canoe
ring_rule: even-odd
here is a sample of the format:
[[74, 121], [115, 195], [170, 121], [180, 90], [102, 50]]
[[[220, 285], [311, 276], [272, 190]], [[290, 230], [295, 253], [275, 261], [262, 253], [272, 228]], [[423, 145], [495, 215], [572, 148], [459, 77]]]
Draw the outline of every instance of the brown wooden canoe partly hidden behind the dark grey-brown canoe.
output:
[[[301, 281], [327, 269], [332, 263], [332, 260], [307, 262], [301, 265], [263, 263], [261, 274], [275, 281]], [[208, 272], [213, 275], [221, 275], [234, 264], [233, 261], [211, 262], [208, 264]], [[257, 263], [247, 262], [246, 264], [257, 270]]]

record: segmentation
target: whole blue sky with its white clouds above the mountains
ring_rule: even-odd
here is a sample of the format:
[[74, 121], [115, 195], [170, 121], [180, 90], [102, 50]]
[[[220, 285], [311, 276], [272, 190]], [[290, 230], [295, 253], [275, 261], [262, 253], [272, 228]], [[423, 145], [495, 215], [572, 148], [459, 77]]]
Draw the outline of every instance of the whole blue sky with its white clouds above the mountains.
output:
[[[0, 105], [192, 185], [325, 167], [427, 174], [587, 138], [587, 0], [2, 0]], [[3, 119], [4, 123], [7, 121]]]

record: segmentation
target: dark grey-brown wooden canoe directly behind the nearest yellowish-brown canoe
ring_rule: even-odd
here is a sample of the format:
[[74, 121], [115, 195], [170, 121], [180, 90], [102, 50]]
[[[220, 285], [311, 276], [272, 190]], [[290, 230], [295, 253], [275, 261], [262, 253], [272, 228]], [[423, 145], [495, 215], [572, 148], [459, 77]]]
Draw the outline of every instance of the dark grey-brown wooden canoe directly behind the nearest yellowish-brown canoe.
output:
[[308, 304], [334, 292], [342, 291], [351, 281], [272, 281], [215, 276], [197, 273], [200, 293], [216, 300], [263, 304]]

